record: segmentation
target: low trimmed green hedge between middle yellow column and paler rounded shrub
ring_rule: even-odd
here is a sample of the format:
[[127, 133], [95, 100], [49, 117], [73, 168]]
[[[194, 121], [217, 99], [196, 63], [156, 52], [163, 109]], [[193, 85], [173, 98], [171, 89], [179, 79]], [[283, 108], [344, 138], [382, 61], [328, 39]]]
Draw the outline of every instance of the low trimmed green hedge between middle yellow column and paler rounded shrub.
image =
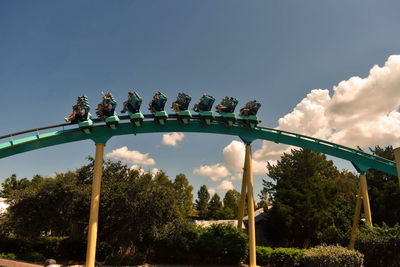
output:
[[271, 267], [301, 266], [304, 249], [256, 247], [257, 264]]

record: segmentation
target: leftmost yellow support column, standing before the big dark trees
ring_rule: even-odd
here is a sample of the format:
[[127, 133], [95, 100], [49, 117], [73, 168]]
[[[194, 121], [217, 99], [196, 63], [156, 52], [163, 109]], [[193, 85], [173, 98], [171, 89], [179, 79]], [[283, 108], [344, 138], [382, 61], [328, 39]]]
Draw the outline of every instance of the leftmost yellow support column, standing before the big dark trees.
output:
[[97, 227], [99, 223], [100, 186], [103, 172], [103, 155], [105, 144], [96, 143], [94, 173], [92, 182], [92, 200], [90, 203], [89, 233], [86, 250], [86, 267], [94, 267], [96, 260]]

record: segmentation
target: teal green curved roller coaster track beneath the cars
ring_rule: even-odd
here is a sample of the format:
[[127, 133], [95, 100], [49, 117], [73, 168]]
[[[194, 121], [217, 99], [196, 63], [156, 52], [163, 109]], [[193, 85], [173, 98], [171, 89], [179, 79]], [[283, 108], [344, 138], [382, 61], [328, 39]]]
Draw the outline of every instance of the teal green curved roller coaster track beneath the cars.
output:
[[[128, 120], [129, 118], [127, 116], [121, 116], [120, 119], [123, 121]], [[248, 144], [254, 140], [260, 139], [302, 147], [348, 160], [360, 173], [369, 169], [376, 169], [397, 176], [396, 163], [393, 161], [353, 148], [297, 133], [263, 126], [256, 126], [254, 129], [249, 129], [244, 127], [240, 123], [240, 120], [238, 120], [238, 123], [234, 124], [233, 126], [228, 127], [221, 122], [223, 120], [221, 117], [216, 117], [216, 120], [210, 125], [203, 125], [199, 116], [193, 116], [190, 123], [186, 125], [180, 124], [176, 115], [169, 115], [169, 119], [165, 125], [157, 125], [152, 119], [153, 116], [145, 115], [145, 121], [140, 127], [134, 127], [130, 122], [126, 122], [120, 123], [117, 129], [114, 130], [110, 129], [107, 125], [100, 121], [95, 121], [97, 125], [92, 128], [90, 134], [83, 133], [77, 125], [75, 125], [75, 128], [65, 129], [65, 127], [74, 126], [70, 124], [52, 125], [13, 134], [7, 134], [0, 136], [0, 140], [3, 139], [5, 141], [5, 139], [10, 139], [9, 141], [0, 144], [0, 159], [44, 147], [88, 139], [91, 139], [96, 143], [106, 143], [111, 137], [118, 135], [136, 135], [162, 132], [196, 132], [238, 136]], [[60, 127], [62, 127], [62, 129], [59, 131], [40, 133], [44, 130]], [[35, 135], [15, 139], [17, 136], [29, 133], [35, 133]]]

